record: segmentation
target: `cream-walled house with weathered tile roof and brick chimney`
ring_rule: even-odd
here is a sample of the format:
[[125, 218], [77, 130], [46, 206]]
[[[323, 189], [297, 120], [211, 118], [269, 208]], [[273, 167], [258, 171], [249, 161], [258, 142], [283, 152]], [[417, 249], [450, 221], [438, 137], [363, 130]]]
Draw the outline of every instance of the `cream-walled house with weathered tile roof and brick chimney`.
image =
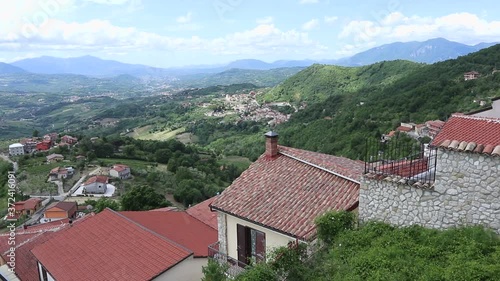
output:
[[268, 251], [316, 238], [314, 219], [358, 207], [364, 164], [278, 145], [268, 132], [266, 151], [210, 204], [218, 216], [215, 255], [240, 266]]

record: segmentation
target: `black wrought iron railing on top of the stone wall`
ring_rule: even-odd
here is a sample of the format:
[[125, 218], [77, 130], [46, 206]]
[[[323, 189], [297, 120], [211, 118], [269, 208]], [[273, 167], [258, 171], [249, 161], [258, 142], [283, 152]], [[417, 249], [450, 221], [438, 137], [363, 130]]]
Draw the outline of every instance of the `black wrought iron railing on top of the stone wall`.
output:
[[436, 178], [437, 148], [367, 141], [365, 174], [393, 177], [408, 184], [432, 185]]

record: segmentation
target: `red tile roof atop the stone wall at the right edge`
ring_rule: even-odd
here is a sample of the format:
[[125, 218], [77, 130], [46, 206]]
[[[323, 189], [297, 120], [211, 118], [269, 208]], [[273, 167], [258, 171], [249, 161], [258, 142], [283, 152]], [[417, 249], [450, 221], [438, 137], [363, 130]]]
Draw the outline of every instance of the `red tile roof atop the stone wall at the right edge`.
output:
[[432, 145], [500, 156], [500, 119], [453, 114]]

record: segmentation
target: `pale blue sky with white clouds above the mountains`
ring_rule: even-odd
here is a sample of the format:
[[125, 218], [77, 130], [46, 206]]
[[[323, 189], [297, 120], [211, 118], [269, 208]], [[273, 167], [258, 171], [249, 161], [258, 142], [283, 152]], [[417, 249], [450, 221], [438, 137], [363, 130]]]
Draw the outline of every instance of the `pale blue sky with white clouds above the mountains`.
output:
[[338, 59], [442, 37], [500, 42], [497, 0], [0, 0], [0, 61], [39, 56], [155, 67]]

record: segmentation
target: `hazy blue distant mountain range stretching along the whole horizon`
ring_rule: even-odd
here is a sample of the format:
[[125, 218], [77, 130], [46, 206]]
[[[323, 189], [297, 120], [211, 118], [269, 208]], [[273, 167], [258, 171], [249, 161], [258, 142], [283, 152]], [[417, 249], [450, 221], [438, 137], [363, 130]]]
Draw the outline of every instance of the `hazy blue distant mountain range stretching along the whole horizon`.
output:
[[308, 67], [312, 64], [336, 64], [341, 66], [362, 66], [388, 60], [409, 60], [413, 62], [435, 63], [454, 59], [496, 43], [481, 43], [469, 46], [443, 38], [425, 42], [391, 43], [358, 53], [340, 60], [279, 60], [267, 63], [261, 60], [245, 59], [227, 65], [192, 66], [177, 68], [155, 68], [140, 64], [127, 64], [114, 60], [103, 60], [93, 56], [76, 58], [56, 58], [43, 56], [23, 59], [11, 64], [1, 63], [0, 74], [79, 74], [95, 77], [132, 75], [135, 77], [181, 77], [199, 73], [220, 73], [230, 69], [269, 70], [287, 67]]

